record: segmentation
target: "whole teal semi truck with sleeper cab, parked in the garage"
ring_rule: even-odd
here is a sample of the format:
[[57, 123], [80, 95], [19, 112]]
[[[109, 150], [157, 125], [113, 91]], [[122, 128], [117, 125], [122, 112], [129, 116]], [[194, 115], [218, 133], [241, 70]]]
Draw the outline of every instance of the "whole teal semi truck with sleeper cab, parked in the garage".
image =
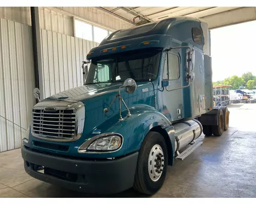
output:
[[[228, 129], [214, 107], [206, 22], [177, 16], [118, 30], [90, 50], [83, 86], [40, 100], [23, 138], [25, 171], [75, 191], [152, 195], [202, 134]], [[182, 169], [181, 169], [182, 170]]]

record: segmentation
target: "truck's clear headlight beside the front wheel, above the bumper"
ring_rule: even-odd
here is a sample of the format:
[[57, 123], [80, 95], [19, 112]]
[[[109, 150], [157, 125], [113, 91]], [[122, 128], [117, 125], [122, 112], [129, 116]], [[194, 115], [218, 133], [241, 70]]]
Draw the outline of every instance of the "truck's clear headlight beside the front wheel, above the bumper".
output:
[[118, 133], [105, 133], [97, 135], [84, 142], [78, 152], [110, 152], [119, 149], [122, 145], [123, 137]]

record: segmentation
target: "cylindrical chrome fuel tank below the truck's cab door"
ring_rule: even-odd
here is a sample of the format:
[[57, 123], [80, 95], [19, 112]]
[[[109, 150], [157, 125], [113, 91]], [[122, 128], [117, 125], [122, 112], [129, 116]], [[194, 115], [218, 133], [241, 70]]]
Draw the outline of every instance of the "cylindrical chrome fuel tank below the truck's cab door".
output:
[[202, 124], [196, 120], [182, 121], [173, 124], [175, 128], [175, 151], [184, 148], [189, 143], [193, 142], [195, 139], [203, 132]]

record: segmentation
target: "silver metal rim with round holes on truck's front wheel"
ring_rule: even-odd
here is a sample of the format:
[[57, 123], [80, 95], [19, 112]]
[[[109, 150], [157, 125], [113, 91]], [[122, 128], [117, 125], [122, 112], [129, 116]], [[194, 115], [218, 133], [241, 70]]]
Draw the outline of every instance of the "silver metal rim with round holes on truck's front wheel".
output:
[[152, 147], [148, 157], [147, 167], [151, 180], [154, 182], [158, 181], [162, 175], [164, 167], [163, 150], [159, 144]]

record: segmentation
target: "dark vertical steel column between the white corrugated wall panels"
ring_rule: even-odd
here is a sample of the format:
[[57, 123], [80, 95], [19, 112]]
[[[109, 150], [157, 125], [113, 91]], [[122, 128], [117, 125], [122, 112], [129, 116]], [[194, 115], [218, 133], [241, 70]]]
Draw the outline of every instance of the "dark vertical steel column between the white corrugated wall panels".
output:
[[40, 99], [44, 99], [44, 86], [42, 83], [42, 57], [39, 25], [39, 8], [30, 7], [32, 24], [32, 43], [34, 58], [35, 88], [40, 90]]

